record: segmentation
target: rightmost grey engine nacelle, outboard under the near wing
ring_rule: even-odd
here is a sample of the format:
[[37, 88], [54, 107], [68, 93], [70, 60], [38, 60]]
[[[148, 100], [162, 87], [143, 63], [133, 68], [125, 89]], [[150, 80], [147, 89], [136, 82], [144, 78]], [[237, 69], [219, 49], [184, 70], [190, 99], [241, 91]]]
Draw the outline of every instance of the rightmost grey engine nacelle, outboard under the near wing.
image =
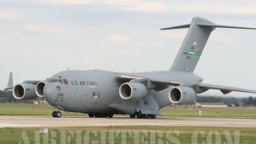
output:
[[197, 98], [193, 88], [177, 86], [170, 90], [169, 99], [173, 104], [189, 104]]

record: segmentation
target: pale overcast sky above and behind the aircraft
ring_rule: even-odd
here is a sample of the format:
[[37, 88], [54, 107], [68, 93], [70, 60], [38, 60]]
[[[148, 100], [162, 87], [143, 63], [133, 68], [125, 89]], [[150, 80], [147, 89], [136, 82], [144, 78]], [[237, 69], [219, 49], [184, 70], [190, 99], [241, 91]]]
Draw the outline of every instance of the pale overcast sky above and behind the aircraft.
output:
[[[1, 0], [0, 90], [10, 72], [17, 84], [68, 68], [168, 70], [188, 29], [160, 28], [189, 24], [197, 16], [256, 28], [256, 1]], [[195, 74], [204, 83], [256, 90], [255, 54], [256, 30], [217, 28]]]

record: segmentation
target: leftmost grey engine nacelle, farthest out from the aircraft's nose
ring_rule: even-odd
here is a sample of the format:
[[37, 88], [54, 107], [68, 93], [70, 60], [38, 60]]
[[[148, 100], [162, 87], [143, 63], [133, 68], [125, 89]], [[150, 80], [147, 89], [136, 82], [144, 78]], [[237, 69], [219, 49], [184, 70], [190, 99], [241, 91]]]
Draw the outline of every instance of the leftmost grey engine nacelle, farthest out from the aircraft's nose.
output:
[[19, 83], [13, 87], [13, 97], [19, 100], [30, 100], [36, 98], [35, 84]]

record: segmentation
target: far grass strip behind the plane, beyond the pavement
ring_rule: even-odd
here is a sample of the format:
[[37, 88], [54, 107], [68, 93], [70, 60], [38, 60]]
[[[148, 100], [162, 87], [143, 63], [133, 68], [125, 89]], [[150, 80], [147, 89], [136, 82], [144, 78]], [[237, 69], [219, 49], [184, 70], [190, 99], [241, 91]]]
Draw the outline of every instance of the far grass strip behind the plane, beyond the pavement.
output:
[[[54, 109], [49, 109], [47, 106], [44, 104], [0, 104], [0, 115], [49, 115]], [[246, 108], [175, 108], [168, 106], [161, 109], [163, 116], [198, 116], [198, 111], [202, 111], [202, 116], [256, 116], [256, 109]], [[84, 116], [86, 114], [63, 111], [62, 115]]]

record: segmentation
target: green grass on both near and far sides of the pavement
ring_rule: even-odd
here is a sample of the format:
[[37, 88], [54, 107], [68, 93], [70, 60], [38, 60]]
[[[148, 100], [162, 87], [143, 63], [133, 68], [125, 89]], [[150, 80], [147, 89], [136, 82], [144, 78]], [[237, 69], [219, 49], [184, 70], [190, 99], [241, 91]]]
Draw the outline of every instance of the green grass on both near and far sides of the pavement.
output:
[[[0, 115], [49, 115], [54, 109], [43, 104], [0, 104]], [[256, 116], [256, 109], [246, 108], [174, 108], [161, 109], [163, 116]], [[64, 113], [81, 115], [83, 113]], [[1, 125], [0, 125], [1, 126]], [[125, 135], [122, 135], [125, 134]], [[79, 139], [81, 138], [81, 139]], [[255, 128], [241, 127], [51, 127], [42, 136], [39, 127], [0, 128], [0, 143], [256, 143]], [[78, 142], [77, 142], [78, 141]], [[98, 142], [97, 142], [98, 141]], [[208, 142], [207, 142], [208, 141]]]

